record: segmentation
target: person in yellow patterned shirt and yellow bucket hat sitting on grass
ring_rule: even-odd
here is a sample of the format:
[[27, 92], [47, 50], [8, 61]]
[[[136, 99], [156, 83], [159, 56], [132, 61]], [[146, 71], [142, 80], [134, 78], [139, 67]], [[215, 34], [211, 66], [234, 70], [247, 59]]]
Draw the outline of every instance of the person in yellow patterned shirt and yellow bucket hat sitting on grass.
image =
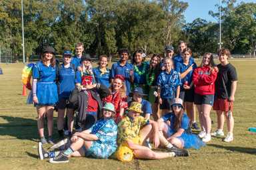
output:
[[[141, 104], [132, 102], [127, 109], [128, 114], [118, 124], [117, 143], [122, 145], [127, 143], [129, 149], [133, 151], [134, 157], [141, 159], [163, 159], [173, 156], [188, 156], [189, 153], [185, 149], [178, 149], [171, 145], [163, 135], [159, 135], [157, 122], [148, 120], [140, 116], [142, 114]], [[149, 137], [153, 141], [155, 148], [164, 145], [169, 152], [155, 152], [149, 147], [143, 146], [145, 139]], [[120, 155], [121, 149], [117, 149], [116, 155]]]

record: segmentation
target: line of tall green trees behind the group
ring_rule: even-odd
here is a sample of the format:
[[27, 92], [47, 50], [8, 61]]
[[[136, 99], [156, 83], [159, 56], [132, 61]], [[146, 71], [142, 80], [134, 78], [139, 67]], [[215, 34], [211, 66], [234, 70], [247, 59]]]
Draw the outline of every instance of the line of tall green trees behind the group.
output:
[[[256, 52], [256, 3], [222, 2], [222, 46], [235, 54]], [[40, 54], [46, 45], [57, 52], [85, 44], [90, 54], [118, 48], [163, 52], [165, 45], [183, 40], [196, 54], [219, 48], [218, 5], [209, 14], [216, 22], [185, 23], [188, 3], [181, 0], [23, 0], [25, 55]], [[0, 45], [22, 55], [21, 0], [0, 1]]]

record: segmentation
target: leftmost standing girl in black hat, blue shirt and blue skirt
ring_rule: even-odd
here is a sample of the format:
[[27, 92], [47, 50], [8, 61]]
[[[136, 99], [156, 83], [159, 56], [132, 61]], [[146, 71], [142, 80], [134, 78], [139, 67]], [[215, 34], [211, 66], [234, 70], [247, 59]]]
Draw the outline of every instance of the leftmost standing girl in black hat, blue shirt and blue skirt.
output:
[[[54, 55], [54, 48], [47, 46], [43, 50], [41, 60], [33, 67], [33, 103], [37, 108], [37, 128], [43, 144], [53, 144], [53, 109], [58, 101], [57, 71]], [[47, 117], [48, 141], [43, 133], [45, 116]]]

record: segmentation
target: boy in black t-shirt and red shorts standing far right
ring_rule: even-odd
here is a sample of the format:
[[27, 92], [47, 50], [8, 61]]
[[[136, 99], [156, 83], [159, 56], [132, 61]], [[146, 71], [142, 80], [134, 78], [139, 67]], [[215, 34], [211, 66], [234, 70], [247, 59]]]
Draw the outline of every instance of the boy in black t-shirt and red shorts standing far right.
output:
[[237, 90], [237, 71], [235, 67], [229, 63], [231, 54], [229, 49], [221, 48], [219, 50], [219, 62], [217, 65], [219, 72], [216, 80], [215, 101], [213, 110], [217, 113], [217, 130], [211, 135], [222, 136], [224, 135], [223, 126], [225, 118], [227, 120], [227, 136], [225, 142], [233, 141], [233, 103], [235, 101], [235, 91]]

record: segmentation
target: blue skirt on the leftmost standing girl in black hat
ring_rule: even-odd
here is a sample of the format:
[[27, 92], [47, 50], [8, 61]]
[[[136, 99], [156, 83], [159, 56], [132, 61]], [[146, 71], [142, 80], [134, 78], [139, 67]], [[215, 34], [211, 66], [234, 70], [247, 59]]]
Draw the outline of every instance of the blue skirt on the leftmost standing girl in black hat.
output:
[[58, 102], [57, 84], [55, 82], [37, 82], [38, 105], [55, 105]]

